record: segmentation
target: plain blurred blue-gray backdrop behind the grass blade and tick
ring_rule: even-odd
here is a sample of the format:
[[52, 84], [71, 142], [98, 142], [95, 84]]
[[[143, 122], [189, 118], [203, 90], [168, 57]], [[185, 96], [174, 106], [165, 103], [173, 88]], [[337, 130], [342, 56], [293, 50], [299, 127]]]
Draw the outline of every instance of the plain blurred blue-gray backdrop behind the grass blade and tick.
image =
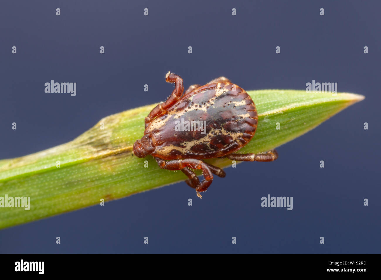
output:
[[[162, 101], [173, 88], [168, 70], [186, 86], [224, 75], [248, 90], [304, 90], [316, 80], [366, 99], [280, 147], [271, 168], [227, 169], [202, 200], [181, 182], [1, 230], [0, 252], [379, 253], [380, 9], [379, 1], [3, 1], [0, 158]], [[77, 82], [77, 96], [45, 93], [50, 80]], [[293, 210], [261, 208], [267, 194], [293, 196]]]

